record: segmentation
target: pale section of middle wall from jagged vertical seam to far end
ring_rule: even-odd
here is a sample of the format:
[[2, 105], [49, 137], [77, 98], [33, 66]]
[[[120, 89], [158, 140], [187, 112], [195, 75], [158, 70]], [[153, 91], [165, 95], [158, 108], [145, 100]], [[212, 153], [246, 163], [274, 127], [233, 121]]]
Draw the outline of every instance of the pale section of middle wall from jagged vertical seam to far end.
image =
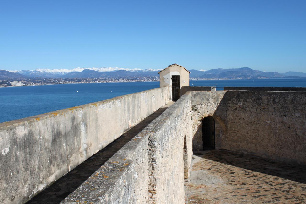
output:
[[184, 202], [184, 178], [189, 177], [184, 168], [190, 171], [192, 157], [190, 101], [187, 93], [153, 121], [148, 147], [150, 203]]

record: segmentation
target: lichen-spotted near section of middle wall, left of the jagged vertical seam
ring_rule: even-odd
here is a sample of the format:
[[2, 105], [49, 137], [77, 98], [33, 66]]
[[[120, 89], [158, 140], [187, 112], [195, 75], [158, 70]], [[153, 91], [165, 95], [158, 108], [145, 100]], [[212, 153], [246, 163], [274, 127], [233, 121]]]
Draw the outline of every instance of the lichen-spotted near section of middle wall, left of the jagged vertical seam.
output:
[[145, 128], [61, 203], [145, 203], [149, 194]]

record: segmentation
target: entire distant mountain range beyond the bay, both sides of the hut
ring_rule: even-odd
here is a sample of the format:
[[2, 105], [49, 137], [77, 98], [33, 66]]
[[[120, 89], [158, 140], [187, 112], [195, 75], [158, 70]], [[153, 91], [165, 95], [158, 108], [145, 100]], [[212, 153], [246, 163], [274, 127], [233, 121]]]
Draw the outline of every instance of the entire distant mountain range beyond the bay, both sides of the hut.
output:
[[[68, 69], [36, 69], [8, 71], [0, 70], [0, 79], [3, 78], [98, 78], [98, 77], [137, 77], [137, 76], [159, 76], [159, 70], [153, 69], [125, 69], [118, 67], [103, 68], [75, 68]], [[300, 78], [306, 77], [306, 73], [302, 72], [263, 72], [253, 70], [248, 67], [237, 69], [211, 69], [211, 70], [189, 70], [191, 78], [212, 78], [212, 79], [235, 79], [235, 78]]]

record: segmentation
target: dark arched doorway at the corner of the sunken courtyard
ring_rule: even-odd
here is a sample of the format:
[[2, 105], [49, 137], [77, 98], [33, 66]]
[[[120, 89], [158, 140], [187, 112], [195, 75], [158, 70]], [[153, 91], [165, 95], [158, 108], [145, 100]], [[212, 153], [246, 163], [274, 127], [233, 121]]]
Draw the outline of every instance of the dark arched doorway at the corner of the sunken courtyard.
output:
[[203, 150], [215, 149], [215, 120], [205, 117], [202, 121]]

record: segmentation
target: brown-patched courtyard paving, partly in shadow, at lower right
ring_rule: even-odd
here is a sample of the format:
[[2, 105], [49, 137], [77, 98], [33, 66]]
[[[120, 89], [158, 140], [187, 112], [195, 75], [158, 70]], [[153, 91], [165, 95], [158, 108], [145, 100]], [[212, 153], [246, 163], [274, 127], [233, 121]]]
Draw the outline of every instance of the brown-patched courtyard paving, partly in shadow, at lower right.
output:
[[221, 150], [194, 157], [185, 203], [306, 203], [303, 167]]

